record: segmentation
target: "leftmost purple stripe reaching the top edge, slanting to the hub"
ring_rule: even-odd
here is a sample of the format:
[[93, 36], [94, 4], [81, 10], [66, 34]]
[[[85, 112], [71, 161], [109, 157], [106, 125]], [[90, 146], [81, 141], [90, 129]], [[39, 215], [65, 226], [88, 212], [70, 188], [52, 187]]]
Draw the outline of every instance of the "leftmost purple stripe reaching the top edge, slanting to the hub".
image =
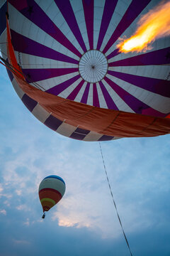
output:
[[[65, 46], [67, 49], [71, 50], [72, 53], [78, 55], [81, 57], [81, 53], [79, 53], [79, 50], [75, 48], [72, 43], [67, 39], [66, 36], [60, 31], [59, 28], [51, 21], [51, 19], [45, 14], [44, 11], [38, 6], [38, 4], [35, 3], [34, 0], [29, 0], [29, 6], [23, 6], [21, 7], [18, 5], [18, 1], [16, 0], [10, 0], [9, 1], [18, 11], [23, 14], [26, 18], [28, 18], [30, 21], [35, 23], [39, 28], [42, 29], [42, 31], [45, 31], [48, 35], [52, 36], [56, 41], [61, 43], [63, 46]], [[33, 7], [32, 12], [30, 13], [28, 10], [30, 7]]]

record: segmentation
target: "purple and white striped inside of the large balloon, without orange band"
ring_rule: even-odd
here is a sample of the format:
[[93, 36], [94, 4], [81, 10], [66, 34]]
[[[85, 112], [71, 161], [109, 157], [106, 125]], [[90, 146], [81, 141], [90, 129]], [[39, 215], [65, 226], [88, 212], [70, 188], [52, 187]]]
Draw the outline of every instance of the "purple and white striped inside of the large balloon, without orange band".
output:
[[[26, 80], [66, 100], [101, 109], [166, 117], [170, 112], [170, 38], [155, 41], [145, 53], [120, 53], [116, 47], [120, 37], [132, 36], [139, 18], [159, 2], [9, 0], [13, 49]], [[2, 16], [6, 1], [0, 3]], [[5, 41], [3, 18], [0, 26], [0, 41]], [[6, 46], [1, 45], [1, 50], [5, 57]], [[24, 92], [15, 80], [13, 86], [23, 98]], [[38, 119], [47, 121], [50, 113], [40, 109], [38, 102], [27, 104], [33, 105], [30, 111]], [[57, 132], [62, 133], [61, 125], [63, 122]], [[67, 127], [63, 134], [72, 137], [76, 129]], [[74, 138], [101, 139], [101, 134], [94, 134], [94, 139], [85, 138], [86, 132], [85, 136]]]

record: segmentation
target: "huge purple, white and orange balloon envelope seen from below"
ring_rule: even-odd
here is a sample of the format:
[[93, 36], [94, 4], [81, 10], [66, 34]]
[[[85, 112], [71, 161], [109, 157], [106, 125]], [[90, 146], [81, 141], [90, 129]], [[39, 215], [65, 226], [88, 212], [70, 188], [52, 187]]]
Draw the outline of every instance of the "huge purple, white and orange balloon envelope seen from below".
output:
[[28, 110], [72, 139], [168, 134], [170, 38], [145, 53], [117, 48], [159, 2], [1, 0], [1, 52]]

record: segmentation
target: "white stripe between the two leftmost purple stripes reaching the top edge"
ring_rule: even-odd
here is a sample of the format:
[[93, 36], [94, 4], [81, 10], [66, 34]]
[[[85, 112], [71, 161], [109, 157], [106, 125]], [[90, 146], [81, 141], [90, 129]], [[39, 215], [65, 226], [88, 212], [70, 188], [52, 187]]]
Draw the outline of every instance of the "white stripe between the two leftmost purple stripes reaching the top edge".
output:
[[[83, 54], [83, 50], [81, 49], [81, 46], [79, 45], [79, 42], [75, 38], [74, 34], [72, 33], [71, 29], [69, 28], [67, 22], [65, 21], [64, 17], [62, 16], [60, 9], [58, 9], [57, 4], [55, 4], [55, 1], [48, 0], [48, 1], [38, 1], [35, 0], [37, 4], [40, 6], [40, 8], [45, 11], [45, 14], [52, 20], [55, 25], [60, 28], [60, 31], [64, 34], [64, 36], [67, 37], [67, 39], [72, 43], [74, 42], [74, 47], [79, 50], [81, 54]], [[50, 2], [50, 3], [49, 3]], [[69, 14], [68, 14], [69, 15]], [[74, 53], [73, 53], [74, 54]]]

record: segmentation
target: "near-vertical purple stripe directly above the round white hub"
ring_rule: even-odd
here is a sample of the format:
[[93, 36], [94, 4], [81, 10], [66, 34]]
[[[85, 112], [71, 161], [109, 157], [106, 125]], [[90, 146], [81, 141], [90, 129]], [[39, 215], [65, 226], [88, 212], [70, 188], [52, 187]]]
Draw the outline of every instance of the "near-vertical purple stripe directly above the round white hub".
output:
[[94, 0], [82, 0], [90, 49], [94, 49]]

